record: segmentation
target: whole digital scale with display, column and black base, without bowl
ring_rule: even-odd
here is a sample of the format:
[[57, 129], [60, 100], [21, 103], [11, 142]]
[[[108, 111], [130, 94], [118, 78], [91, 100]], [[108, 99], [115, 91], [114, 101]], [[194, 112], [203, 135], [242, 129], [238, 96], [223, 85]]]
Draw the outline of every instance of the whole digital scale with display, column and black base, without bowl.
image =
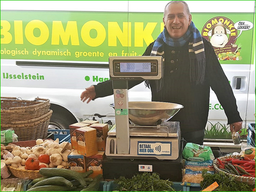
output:
[[[130, 177], [144, 171], [157, 172], [165, 177], [166, 173], [163, 172], [177, 169], [179, 173], [176, 173], [177, 180], [174, 181], [180, 181], [182, 147], [179, 122], [141, 126], [129, 121], [128, 81], [161, 79], [162, 56], [110, 57], [109, 67], [113, 80], [116, 126], [109, 131], [106, 139], [104, 179]], [[121, 167], [125, 168], [126, 173], [121, 171]], [[129, 167], [132, 172], [126, 170]], [[170, 178], [169, 174], [166, 177]]]

